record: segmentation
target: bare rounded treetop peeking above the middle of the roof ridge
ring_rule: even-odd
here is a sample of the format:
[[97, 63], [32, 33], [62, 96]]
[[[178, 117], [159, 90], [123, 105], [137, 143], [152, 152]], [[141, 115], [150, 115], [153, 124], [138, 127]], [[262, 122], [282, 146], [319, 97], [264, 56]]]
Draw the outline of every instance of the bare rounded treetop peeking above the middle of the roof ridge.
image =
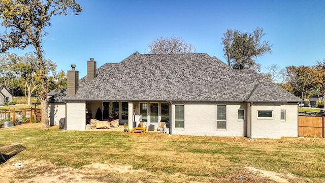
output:
[[173, 54], [173, 53], [195, 53], [196, 48], [192, 44], [186, 43], [181, 38], [157, 37], [156, 40], [148, 44], [148, 52], [151, 54]]

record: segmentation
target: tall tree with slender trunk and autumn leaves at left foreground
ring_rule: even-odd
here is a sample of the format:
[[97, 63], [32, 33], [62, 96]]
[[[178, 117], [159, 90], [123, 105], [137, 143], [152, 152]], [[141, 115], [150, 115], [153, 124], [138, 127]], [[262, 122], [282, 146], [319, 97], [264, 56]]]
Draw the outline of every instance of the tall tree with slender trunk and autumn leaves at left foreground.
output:
[[75, 0], [0, 0], [1, 25], [6, 30], [0, 34], [1, 52], [10, 48], [35, 48], [37, 62], [40, 68], [42, 128], [49, 127], [47, 118], [47, 76], [46, 61], [42, 48], [42, 38], [46, 35], [45, 28], [50, 26], [53, 15], [76, 15], [82, 7]]

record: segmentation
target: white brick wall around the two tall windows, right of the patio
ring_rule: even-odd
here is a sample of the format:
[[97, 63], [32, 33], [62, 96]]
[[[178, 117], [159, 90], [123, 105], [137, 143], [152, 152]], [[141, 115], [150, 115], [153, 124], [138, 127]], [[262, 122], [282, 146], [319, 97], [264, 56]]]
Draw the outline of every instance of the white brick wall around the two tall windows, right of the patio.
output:
[[[175, 104], [184, 105], [184, 129], [174, 127]], [[226, 105], [227, 130], [216, 130], [216, 106]], [[173, 103], [172, 134], [208, 136], [244, 136], [245, 120], [238, 120], [238, 109], [246, 111], [246, 103]]]

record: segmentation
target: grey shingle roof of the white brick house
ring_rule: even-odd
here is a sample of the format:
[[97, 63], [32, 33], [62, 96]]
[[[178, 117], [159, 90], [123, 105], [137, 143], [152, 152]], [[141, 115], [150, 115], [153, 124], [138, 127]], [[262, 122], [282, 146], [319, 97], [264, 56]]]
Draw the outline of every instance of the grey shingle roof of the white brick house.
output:
[[78, 101], [298, 102], [251, 70], [234, 70], [206, 53], [140, 54], [107, 63], [79, 80]]

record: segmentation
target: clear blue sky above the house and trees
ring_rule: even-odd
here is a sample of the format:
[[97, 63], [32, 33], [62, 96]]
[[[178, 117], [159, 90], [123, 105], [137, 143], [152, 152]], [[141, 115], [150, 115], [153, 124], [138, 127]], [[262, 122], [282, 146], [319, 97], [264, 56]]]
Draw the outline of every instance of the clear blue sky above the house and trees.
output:
[[[180, 37], [198, 53], [225, 62], [221, 38], [228, 28], [251, 33], [264, 29], [272, 53], [257, 57], [262, 67], [315, 65], [325, 58], [325, 1], [85, 1], [78, 16], [52, 17], [43, 39], [45, 57], [57, 71], [76, 64], [80, 78], [86, 61], [97, 66], [147, 53], [156, 37]], [[25, 50], [10, 50], [22, 55]], [[266, 72], [265, 69], [263, 71]]]

